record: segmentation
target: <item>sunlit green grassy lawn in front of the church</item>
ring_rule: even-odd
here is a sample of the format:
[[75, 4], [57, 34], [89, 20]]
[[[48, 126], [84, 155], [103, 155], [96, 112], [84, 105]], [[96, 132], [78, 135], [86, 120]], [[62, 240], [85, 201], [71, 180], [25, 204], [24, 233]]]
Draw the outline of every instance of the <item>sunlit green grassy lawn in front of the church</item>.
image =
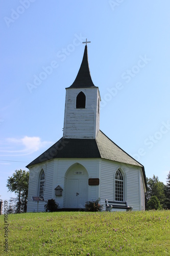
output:
[[[3, 215], [0, 224], [3, 245]], [[9, 255], [170, 255], [169, 210], [16, 214], [8, 224]]]

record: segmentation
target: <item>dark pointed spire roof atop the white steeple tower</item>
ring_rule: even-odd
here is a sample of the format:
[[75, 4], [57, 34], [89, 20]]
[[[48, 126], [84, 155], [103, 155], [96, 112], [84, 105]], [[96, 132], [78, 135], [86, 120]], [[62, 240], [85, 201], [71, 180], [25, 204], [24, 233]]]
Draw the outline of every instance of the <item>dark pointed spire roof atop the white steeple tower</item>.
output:
[[69, 88], [90, 88], [95, 87], [90, 76], [88, 66], [87, 46], [85, 46], [83, 60], [74, 83]]

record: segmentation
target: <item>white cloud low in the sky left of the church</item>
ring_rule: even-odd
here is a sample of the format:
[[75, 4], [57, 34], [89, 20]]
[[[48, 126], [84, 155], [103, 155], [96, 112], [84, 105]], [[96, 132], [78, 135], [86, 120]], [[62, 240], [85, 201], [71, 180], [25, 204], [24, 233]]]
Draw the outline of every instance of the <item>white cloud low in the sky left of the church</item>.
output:
[[[0, 148], [1, 156], [24, 156], [39, 151], [43, 147], [52, 145], [51, 141], [41, 141], [40, 137], [25, 136], [20, 139], [7, 138], [6, 146]], [[10, 146], [10, 149], [9, 149]]]

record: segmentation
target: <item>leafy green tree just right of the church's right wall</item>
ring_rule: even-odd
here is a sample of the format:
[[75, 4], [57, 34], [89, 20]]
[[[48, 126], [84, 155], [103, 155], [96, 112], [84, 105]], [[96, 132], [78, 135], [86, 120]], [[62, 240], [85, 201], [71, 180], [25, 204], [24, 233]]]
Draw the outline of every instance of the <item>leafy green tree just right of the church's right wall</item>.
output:
[[156, 196], [161, 207], [165, 207], [165, 185], [159, 181], [158, 176], [153, 175], [153, 178], [147, 178], [147, 195], [145, 197], [145, 208], [148, 208], [149, 200]]

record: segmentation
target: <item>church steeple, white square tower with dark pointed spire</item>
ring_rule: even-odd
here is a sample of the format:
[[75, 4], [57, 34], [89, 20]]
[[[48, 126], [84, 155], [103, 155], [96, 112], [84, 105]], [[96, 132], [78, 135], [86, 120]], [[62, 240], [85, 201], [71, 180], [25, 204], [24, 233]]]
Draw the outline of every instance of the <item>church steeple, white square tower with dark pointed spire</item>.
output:
[[100, 123], [100, 92], [88, 66], [87, 39], [83, 60], [74, 83], [66, 88], [63, 138], [95, 139]]

